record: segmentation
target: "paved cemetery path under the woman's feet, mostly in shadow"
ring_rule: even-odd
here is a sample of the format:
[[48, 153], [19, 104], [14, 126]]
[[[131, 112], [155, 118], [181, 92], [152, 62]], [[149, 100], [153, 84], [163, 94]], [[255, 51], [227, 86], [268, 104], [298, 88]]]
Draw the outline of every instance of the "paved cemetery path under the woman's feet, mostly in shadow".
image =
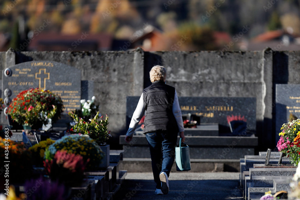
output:
[[239, 174], [239, 172], [171, 172], [169, 193], [167, 195], [155, 195], [152, 173], [128, 173], [113, 199], [243, 199], [242, 190], [239, 189]]

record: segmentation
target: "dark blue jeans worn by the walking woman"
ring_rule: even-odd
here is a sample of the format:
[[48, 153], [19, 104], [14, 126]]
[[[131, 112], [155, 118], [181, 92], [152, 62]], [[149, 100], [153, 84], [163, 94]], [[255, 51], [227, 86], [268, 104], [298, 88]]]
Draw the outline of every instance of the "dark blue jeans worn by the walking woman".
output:
[[168, 177], [175, 160], [175, 147], [178, 133], [154, 132], [147, 133], [150, 148], [152, 172], [156, 188], [161, 189], [159, 175], [166, 172]]

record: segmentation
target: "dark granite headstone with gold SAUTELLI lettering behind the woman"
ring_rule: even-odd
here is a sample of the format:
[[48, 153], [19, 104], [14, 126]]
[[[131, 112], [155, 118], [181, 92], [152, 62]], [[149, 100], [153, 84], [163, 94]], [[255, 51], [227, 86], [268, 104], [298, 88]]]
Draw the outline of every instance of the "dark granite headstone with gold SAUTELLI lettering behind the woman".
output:
[[[129, 127], [134, 110], [140, 97], [127, 97], [126, 122]], [[190, 114], [200, 117], [202, 123], [217, 123], [220, 131], [229, 130], [227, 116], [244, 117], [247, 127], [256, 130], [256, 98], [255, 97], [178, 97], [183, 115]]]

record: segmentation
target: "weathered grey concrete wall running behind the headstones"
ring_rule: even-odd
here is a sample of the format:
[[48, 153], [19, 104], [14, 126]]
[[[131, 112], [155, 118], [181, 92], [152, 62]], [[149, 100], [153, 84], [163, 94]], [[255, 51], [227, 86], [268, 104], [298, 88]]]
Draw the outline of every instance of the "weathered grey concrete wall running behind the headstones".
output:
[[[15, 56], [15, 57], [14, 57]], [[275, 84], [300, 82], [300, 52], [271, 49], [250, 52], [0, 52], [1, 70], [32, 61], [57, 61], [82, 71], [82, 80], [94, 81], [100, 112], [110, 116], [114, 142], [126, 133], [126, 96], [140, 96], [151, 84], [156, 64], [167, 69], [167, 84], [179, 96], [256, 97], [256, 135], [262, 149], [275, 147], [273, 129]], [[67, 76], [67, 74], [66, 74]], [[225, 102], [224, 102], [225, 103]]]

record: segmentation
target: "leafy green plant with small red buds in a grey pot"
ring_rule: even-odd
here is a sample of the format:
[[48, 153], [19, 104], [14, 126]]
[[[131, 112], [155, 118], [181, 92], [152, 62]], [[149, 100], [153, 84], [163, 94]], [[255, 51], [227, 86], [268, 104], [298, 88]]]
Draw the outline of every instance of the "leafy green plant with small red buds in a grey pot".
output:
[[[107, 125], [109, 124], [108, 116], [106, 115], [105, 119], [98, 121], [99, 112], [97, 112], [94, 118], [89, 119], [88, 122], [86, 122], [73, 112], [68, 112], [68, 114], [73, 118], [76, 124], [74, 124], [70, 130], [67, 130], [67, 132], [71, 134], [80, 133], [88, 135], [94, 139], [97, 144], [101, 146], [101, 150], [105, 153], [103, 162], [99, 167], [106, 169], [110, 164], [110, 146], [105, 145], [107, 139], [111, 137], [110, 131], [107, 131]], [[103, 118], [103, 116], [100, 118]]]

